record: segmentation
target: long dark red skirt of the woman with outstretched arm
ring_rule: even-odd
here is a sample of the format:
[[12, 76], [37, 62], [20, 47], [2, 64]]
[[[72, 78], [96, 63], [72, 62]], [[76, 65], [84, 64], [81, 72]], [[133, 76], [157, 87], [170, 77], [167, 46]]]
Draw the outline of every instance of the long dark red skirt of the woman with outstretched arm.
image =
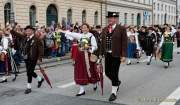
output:
[[[89, 54], [90, 56], [90, 54]], [[85, 62], [85, 53], [84, 51], [77, 51], [77, 57], [75, 59], [75, 65], [74, 65], [74, 80], [76, 84], [78, 85], [87, 85], [89, 83], [97, 83], [100, 81], [100, 77], [97, 72], [97, 65], [94, 62], [91, 62], [89, 60], [89, 71], [91, 77], [88, 75], [88, 71], [86, 68], [86, 62]]]

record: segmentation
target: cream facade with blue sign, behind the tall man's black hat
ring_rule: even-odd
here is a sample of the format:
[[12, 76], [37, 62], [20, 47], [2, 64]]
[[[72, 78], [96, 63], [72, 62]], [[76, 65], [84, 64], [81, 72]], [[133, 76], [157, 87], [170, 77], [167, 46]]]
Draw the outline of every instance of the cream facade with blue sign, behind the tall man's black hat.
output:
[[107, 0], [109, 11], [118, 12], [123, 25], [152, 24], [152, 0]]

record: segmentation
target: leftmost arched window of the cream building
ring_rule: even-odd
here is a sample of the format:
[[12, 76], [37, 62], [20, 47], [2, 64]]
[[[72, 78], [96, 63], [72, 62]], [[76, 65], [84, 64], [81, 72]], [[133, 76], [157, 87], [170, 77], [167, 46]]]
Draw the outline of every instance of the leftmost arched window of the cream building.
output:
[[5, 6], [4, 6], [5, 25], [7, 25], [7, 23], [10, 23], [10, 16], [11, 16], [11, 4], [6, 3]]

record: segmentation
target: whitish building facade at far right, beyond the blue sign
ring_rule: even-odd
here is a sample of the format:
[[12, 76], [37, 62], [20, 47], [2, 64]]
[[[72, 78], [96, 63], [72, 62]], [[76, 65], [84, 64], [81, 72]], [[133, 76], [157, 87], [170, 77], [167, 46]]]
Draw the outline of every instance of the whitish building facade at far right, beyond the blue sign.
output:
[[176, 25], [176, 0], [154, 0], [154, 24]]

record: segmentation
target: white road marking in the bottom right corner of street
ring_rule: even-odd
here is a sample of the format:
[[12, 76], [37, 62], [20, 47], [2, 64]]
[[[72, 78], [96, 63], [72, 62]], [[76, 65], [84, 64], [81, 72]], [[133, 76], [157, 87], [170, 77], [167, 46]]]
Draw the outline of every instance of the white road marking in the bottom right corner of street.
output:
[[180, 87], [171, 93], [162, 103], [159, 105], [175, 105], [180, 99]]

